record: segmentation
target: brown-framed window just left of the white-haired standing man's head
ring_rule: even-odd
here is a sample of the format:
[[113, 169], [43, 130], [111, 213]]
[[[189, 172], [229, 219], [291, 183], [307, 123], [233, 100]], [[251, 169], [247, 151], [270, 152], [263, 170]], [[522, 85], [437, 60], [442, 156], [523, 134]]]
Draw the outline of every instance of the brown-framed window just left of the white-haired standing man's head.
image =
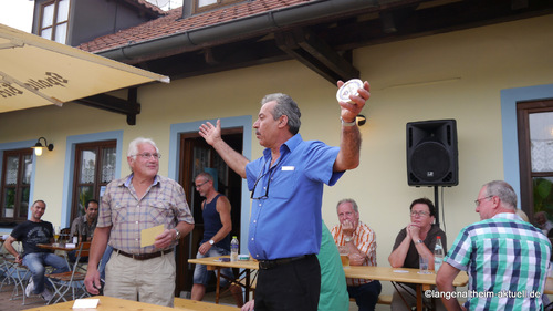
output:
[[75, 145], [71, 219], [84, 215], [87, 200], [101, 199], [105, 186], [115, 177], [116, 157], [115, 141]]

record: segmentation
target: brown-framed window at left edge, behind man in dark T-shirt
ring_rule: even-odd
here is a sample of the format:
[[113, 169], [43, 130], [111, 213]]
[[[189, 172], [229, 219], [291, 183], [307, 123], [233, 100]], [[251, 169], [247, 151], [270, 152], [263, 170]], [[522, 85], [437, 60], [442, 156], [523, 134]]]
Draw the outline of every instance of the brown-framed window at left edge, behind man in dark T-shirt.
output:
[[27, 220], [33, 156], [31, 148], [3, 153], [0, 221], [4, 224]]

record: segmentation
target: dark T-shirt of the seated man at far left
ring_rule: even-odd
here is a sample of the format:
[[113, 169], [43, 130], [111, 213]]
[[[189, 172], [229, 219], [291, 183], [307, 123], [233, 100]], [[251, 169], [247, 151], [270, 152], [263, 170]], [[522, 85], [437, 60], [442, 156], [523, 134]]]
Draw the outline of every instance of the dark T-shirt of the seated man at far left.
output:
[[21, 258], [25, 257], [28, 253], [32, 252], [52, 252], [51, 250], [39, 248], [39, 243], [50, 243], [54, 232], [54, 227], [49, 221], [34, 222], [31, 220], [25, 220], [19, 224], [10, 236], [18, 241], [21, 241], [23, 246], [23, 255]]

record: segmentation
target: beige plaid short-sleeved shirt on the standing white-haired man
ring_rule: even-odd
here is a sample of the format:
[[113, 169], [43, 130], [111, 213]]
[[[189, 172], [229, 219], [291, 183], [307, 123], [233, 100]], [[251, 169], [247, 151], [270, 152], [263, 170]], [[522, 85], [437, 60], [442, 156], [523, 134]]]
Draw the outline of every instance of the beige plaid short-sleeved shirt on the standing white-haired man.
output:
[[150, 253], [154, 246], [140, 247], [140, 231], [164, 225], [166, 229], [177, 222], [194, 224], [186, 203], [185, 190], [175, 180], [157, 175], [142, 199], [131, 183], [133, 175], [113, 180], [106, 187], [96, 227], [112, 227], [109, 245], [129, 253]]

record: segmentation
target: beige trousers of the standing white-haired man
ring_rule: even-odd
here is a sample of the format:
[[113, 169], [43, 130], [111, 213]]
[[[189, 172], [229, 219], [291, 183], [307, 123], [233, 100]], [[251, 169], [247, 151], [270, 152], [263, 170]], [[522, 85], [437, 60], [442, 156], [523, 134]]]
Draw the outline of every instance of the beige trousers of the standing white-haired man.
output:
[[173, 307], [175, 267], [175, 252], [147, 260], [135, 260], [114, 250], [106, 265], [104, 294]]

